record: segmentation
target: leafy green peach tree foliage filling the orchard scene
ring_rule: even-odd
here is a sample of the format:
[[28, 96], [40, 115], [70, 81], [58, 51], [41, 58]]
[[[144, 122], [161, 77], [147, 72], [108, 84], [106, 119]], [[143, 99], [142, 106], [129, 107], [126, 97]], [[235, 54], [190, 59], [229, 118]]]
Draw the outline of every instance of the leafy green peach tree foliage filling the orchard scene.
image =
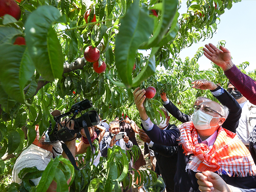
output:
[[[160, 92], [167, 92], [177, 103], [188, 98], [184, 108], [188, 107], [194, 99], [189, 83], [213, 77], [217, 69], [199, 73], [196, 62], [202, 50], [184, 62], [178, 55], [193, 43], [211, 38], [220, 16], [239, 1], [187, 1], [187, 12], [182, 14], [178, 0], [21, 0], [21, 17], [3, 14], [0, 8], [1, 191], [46, 191], [52, 180], [58, 181], [58, 191], [67, 191], [70, 177], [74, 191], [121, 191], [121, 181], [131, 185], [128, 162], [138, 157], [136, 147], [127, 155], [118, 147], [109, 149], [100, 166], [90, 164], [81, 171], [74, 171], [64, 158], [55, 158], [44, 172], [23, 170], [21, 186], [11, 183], [10, 173], [16, 157], [35, 139], [35, 125], [39, 124], [42, 135], [49, 120], [54, 121], [50, 115], [54, 109], [65, 112], [87, 98], [93, 101], [90, 109], [103, 119], [112, 120], [123, 112], [139, 123], [138, 114], [131, 111], [132, 92], [150, 85], [157, 90], [156, 97], [145, 103], [152, 119], [159, 120]], [[18, 37], [25, 43], [15, 43]], [[96, 64], [83, 57], [89, 46], [99, 52]], [[104, 63], [105, 72], [93, 69]], [[156, 66], [166, 71], [156, 71]], [[84, 156], [87, 162], [90, 153]], [[135, 180], [141, 177], [139, 185], [148, 174], [140, 173], [135, 172]], [[33, 186], [29, 179], [39, 176], [39, 185]]]

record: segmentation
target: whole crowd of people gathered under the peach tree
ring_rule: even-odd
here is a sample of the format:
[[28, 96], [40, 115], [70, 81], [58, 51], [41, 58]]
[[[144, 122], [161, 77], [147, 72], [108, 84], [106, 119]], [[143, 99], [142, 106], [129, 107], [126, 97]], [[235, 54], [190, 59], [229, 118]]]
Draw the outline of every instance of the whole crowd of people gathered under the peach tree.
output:
[[[88, 128], [89, 139], [97, 139], [100, 146], [94, 165], [99, 163], [100, 156], [107, 157], [108, 149], [114, 145], [125, 151], [133, 145], [139, 146], [135, 137], [139, 134], [145, 142], [144, 155], [149, 154], [151, 170], [162, 176], [167, 192], [256, 192], [256, 82], [233, 64], [228, 49], [209, 44], [203, 50], [208, 59], [223, 69], [229, 79], [227, 90], [204, 79], [193, 81], [192, 88], [210, 90], [221, 104], [198, 97], [193, 103], [194, 112], [189, 115], [182, 113], [166, 93], [161, 93], [163, 108], [160, 110], [163, 113], [159, 112], [160, 123], [155, 125], [146, 113], [145, 90], [136, 88], [133, 95], [141, 129], [127, 116], [117, 117], [108, 124], [103, 120]], [[171, 124], [170, 115], [182, 124], [178, 127]], [[70, 121], [67, 128], [73, 129], [74, 121], [64, 121]], [[35, 129], [35, 141], [15, 163], [14, 182], [21, 183], [18, 174], [25, 167], [36, 166], [38, 170], [44, 170], [57, 155], [62, 154], [68, 159], [60, 142], [47, 141], [46, 134], [39, 139], [38, 126]], [[81, 142], [77, 144], [75, 140], [65, 142], [74, 158], [76, 154], [85, 153], [90, 146], [83, 129], [81, 135]], [[130, 162], [130, 169], [138, 170], [144, 165], [146, 162], [141, 153], [136, 161]], [[31, 180], [37, 185], [40, 177]], [[48, 191], [54, 190], [55, 181]], [[123, 191], [131, 191], [131, 188], [126, 187]], [[138, 191], [143, 190], [139, 187]]]

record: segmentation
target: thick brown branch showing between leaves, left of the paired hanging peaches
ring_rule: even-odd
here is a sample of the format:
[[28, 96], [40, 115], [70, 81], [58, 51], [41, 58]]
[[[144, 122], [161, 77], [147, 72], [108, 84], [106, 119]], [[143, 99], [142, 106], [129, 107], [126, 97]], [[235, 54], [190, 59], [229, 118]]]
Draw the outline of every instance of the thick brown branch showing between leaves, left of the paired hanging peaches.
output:
[[[76, 59], [74, 62], [72, 63], [68, 63], [67, 61], [64, 62], [63, 64], [63, 74], [64, 73], [69, 73], [71, 71], [77, 70], [77, 69], [83, 69], [84, 65], [86, 64], [84, 57], [82, 58], [78, 58]], [[40, 81], [40, 79], [43, 79], [43, 77], [39, 77], [39, 81], [37, 82], [37, 88], [36, 88], [36, 92], [34, 94], [34, 96], [38, 93], [38, 91], [44, 87], [46, 84], [50, 83], [50, 81]], [[24, 88], [24, 90], [26, 90], [29, 87], [29, 85], [27, 87]]]

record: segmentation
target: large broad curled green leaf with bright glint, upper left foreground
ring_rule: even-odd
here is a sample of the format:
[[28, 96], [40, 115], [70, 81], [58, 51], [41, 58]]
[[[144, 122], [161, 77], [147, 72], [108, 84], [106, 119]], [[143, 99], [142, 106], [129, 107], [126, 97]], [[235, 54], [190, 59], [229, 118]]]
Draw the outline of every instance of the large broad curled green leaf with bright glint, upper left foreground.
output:
[[59, 10], [52, 6], [41, 6], [29, 15], [25, 23], [29, 54], [36, 70], [49, 81], [61, 78], [63, 74], [62, 46], [52, 28], [57, 22], [65, 22]]

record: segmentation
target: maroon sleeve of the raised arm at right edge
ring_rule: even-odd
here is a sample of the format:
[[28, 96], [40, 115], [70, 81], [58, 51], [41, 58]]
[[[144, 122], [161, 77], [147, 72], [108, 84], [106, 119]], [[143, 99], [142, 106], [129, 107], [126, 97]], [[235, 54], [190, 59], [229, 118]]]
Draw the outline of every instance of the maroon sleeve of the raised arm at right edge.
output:
[[224, 73], [231, 84], [234, 85], [250, 103], [256, 105], [256, 81], [242, 73], [235, 65]]

